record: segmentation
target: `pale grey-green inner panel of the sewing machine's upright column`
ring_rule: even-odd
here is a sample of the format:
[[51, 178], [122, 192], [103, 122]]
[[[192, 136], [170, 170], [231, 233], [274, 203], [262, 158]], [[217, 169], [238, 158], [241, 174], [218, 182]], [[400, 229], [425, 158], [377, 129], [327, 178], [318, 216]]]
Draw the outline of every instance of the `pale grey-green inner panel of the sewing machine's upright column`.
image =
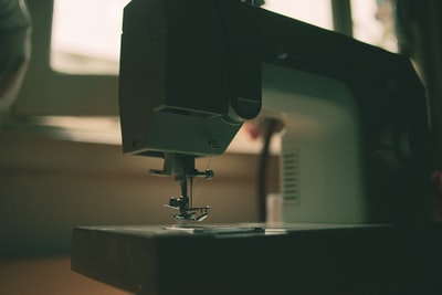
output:
[[346, 84], [264, 64], [263, 106], [284, 123], [274, 213], [286, 222], [369, 222], [360, 117]]

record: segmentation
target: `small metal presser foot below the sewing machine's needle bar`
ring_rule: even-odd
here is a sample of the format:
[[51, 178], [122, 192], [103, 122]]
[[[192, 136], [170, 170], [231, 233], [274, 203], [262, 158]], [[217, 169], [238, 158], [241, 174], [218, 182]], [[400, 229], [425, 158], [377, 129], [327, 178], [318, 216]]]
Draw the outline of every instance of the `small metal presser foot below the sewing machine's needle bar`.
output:
[[209, 206], [206, 207], [189, 207], [188, 197], [170, 198], [169, 204], [166, 208], [178, 210], [179, 213], [173, 214], [177, 221], [203, 221], [209, 217]]

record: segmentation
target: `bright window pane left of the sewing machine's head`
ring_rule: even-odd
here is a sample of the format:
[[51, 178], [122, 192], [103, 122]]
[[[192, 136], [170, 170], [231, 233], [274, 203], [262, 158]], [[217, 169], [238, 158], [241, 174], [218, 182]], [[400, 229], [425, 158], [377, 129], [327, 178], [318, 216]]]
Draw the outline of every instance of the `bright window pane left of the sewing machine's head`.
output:
[[129, 0], [54, 0], [51, 66], [116, 74], [123, 8]]

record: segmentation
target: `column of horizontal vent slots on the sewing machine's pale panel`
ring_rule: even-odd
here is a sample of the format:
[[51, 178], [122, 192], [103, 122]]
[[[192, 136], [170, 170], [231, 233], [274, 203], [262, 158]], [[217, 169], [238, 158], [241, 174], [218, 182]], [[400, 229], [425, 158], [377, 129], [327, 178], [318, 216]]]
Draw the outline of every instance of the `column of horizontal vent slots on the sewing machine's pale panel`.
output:
[[299, 201], [299, 152], [284, 152], [281, 159], [283, 198], [285, 201]]

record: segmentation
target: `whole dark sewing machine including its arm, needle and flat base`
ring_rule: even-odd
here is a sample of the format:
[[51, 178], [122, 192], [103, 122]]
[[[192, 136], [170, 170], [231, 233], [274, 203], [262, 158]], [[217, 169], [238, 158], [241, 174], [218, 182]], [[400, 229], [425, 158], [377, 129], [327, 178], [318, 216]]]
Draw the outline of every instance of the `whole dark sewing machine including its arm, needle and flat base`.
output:
[[[73, 270], [137, 294], [418, 289], [430, 276], [413, 238], [439, 240], [425, 234], [429, 127], [412, 65], [255, 2], [126, 7], [124, 152], [165, 159], [151, 172], [178, 180], [178, 225], [77, 228]], [[256, 116], [284, 125], [282, 223], [188, 225], [210, 209], [192, 207], [192, 179], [214, 176], [196, 158], [221, 155]]]

